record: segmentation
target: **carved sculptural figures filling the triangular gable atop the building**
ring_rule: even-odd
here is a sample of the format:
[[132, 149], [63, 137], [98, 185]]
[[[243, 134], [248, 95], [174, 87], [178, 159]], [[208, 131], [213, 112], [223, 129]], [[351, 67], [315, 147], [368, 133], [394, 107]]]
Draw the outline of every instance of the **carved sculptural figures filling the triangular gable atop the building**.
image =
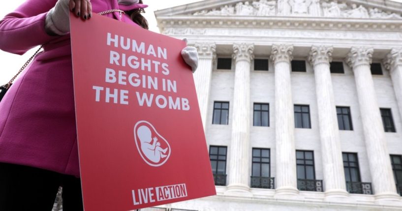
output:
[[309, 16], [357, 19], [402, 19], [375, 7], [328, 0], [256, 0], [201, 10], [195, 16]]

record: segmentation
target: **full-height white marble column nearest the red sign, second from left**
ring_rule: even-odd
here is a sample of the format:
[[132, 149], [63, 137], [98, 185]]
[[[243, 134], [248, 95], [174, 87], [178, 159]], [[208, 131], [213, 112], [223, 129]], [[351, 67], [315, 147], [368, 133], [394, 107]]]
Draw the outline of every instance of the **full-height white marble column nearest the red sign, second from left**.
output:
[[236, 70], [227, 189], [249, 191], [250, 61], [253, 59], [254, 45], [234, 44], [233, 51]]

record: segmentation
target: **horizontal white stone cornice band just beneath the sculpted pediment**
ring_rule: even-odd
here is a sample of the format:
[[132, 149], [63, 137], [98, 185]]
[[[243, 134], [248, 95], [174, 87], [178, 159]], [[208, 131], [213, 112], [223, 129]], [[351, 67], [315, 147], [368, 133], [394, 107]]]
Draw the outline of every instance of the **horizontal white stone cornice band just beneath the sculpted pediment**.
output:
[[158, 27], [161, 31], [165, 28], [252, 28], [401, 32], [402, 20], [254, 16], [163, 16], [158, 17]]

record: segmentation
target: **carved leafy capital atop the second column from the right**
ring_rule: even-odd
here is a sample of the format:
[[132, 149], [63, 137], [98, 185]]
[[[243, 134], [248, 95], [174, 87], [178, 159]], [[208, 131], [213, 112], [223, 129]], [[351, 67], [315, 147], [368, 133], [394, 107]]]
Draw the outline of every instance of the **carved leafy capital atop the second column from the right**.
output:
[[371, 47], [352, 47], [347, 54], [346, 63], [352, 69], [362, 64], [370, 65], [373, 52], [374, 49]]

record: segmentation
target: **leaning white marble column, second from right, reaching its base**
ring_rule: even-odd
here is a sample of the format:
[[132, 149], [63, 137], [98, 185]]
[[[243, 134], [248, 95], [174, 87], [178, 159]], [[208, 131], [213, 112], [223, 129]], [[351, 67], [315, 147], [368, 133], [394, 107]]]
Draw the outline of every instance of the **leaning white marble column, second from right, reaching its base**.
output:
[[352, 47], [346, 62], [353, 69], [355, 76], [375, 199], [399, 200], [371, 76], [372, 53], [372, 48]]

